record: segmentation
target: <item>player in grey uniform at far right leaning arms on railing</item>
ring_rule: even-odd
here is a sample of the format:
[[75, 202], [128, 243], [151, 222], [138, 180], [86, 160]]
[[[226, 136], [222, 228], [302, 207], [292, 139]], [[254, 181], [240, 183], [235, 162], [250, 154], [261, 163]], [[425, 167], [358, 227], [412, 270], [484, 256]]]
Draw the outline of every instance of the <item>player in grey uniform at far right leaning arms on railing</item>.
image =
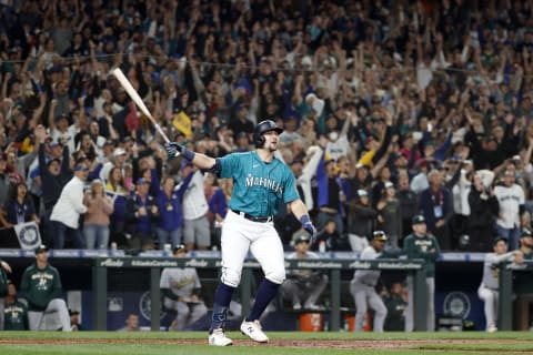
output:
[[477, 295], [485, 303], [485, 320], [486, 332], [493, 333], [497, 331], [497, 300], [500, 295], [500, 268], [499, 264], [502, 262], [514, 261], [516, 264], [522, 264], [523, 254], [521, 251], [507, 251], [507, 240], [503, 236], [496, 236], [492, 242], [494, 253], [487, 253], [483, 262], [483, 278], [481, 280]]

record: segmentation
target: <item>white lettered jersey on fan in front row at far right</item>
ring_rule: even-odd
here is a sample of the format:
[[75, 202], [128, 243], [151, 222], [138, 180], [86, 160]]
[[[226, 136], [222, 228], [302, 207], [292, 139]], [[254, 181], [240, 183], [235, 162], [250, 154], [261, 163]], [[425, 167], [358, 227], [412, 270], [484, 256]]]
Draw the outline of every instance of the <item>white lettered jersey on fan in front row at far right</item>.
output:
[[517, 184], [494, 187], [494, 195], [500, 204], [497, 224], [504, 229], [520, 225], [520, 205], [525, 203], [524, 191]]

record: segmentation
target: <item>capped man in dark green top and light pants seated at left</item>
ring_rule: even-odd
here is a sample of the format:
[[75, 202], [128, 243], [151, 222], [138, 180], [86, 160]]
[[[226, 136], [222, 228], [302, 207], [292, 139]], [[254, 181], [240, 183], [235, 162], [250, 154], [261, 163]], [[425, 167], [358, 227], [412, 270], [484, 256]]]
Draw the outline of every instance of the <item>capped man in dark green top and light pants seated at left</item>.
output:
[[36, 263], [24, 270], [21, 291], [28, 300], [28, 320], [30, 331], [39, 331], [44, 313], [57, 312], [63, 332], [70, 332], [69, 310], [61, 300], [61, 277], [56, 267], [48, 262], [48, 247], [36, 248]]

